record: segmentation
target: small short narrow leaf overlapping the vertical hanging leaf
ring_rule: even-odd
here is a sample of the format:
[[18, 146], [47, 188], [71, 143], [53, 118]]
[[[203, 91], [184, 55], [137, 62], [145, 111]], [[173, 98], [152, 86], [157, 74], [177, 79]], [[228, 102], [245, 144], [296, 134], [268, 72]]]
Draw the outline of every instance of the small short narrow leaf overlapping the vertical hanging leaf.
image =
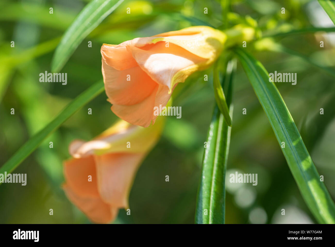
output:
[[214, 86], [214, 96], [215, 96], [216, 104], [219, 107], [221, 113], [223, 114], [224, 120], [227, 122], [227, 125], [231, 126], [229, 110], [228, 110], [226, 98], [224, 97], [222, 86], [220, 84], [219, 73], [217, 71], [217, 64], [214, 65], [214, 70], [213, 70], [213, 86]]

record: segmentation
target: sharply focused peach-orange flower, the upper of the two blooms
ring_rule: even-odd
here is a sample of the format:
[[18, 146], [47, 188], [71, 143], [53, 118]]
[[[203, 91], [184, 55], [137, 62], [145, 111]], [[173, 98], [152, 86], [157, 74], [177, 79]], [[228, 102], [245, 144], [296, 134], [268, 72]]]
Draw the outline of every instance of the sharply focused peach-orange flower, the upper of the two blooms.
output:
[[175, 86], [219, 56], [226, 35], [198, 26], [101, 47], [102, 73], [112, 111], [143, 127], [154, 124]]

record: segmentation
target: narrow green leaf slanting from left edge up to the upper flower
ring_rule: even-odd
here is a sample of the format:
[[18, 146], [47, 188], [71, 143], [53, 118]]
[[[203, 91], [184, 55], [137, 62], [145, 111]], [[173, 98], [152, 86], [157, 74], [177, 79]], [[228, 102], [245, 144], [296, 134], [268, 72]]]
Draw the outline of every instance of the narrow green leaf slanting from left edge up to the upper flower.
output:
[[64, 110], [51, 121], [43, 130], [29, 139], [20, 149], [0, 168], [4, 174], [13, 171], [30, 153], [32, 153], [51, 133], [57, 130], [63, 122], [72, 116], [81, 107], [104, 91], [104, 83], [99, 81], [77, 96]]

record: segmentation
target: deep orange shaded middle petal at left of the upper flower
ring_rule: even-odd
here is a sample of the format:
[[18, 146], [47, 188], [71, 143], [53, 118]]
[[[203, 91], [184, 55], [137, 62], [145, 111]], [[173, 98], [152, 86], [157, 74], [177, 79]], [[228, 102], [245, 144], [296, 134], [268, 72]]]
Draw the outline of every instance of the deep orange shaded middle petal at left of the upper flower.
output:
[[112, 104], [140, 103], [157, 85], [139, 66], [119, 71], [107, 65], [103, 59], [102, 73], [106, 94]]

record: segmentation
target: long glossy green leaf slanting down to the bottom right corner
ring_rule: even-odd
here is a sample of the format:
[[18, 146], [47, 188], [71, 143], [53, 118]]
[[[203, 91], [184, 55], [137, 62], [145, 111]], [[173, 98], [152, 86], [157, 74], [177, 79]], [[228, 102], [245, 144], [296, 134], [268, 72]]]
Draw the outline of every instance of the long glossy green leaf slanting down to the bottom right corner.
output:
[[[235, 51], [270, 121], [306, 204], [319, 223], [334, 224], [334, 202], [325, 184], [320, 182], [320, 175], [283, 98], [274, 83], [269, 82], [269, 73], [252, 55], [242, 49]], [[285, 142], [285, 148], [282, 142]]]

